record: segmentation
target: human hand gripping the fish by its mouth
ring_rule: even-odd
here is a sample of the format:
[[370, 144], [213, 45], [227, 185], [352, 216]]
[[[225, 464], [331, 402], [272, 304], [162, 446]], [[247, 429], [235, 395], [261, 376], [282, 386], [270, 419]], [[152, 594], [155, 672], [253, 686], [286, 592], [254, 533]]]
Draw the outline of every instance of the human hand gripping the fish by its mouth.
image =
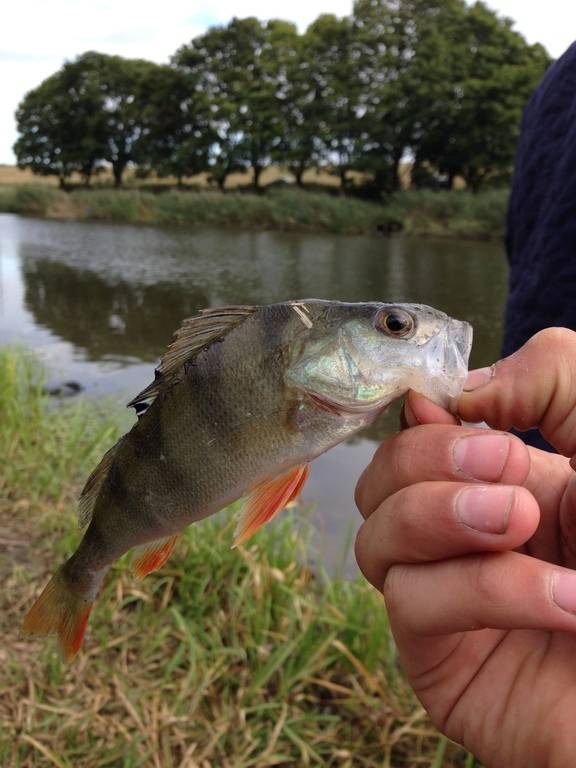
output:
[[[474, 372], [458, 426], [410, 393], [356, 489], [356, 557], [437, 727], [490, 768], [576, 763], [576, 333]], [[539, 426], [562, 455], [496, 430]]]

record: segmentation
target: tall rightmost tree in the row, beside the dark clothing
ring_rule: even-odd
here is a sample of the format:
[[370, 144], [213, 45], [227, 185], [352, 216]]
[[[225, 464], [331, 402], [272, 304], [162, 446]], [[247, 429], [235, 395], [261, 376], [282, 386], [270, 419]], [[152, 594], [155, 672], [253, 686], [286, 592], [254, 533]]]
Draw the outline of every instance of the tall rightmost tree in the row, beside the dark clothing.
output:
[[423, 30], [416, 56], [417, 163], [437, 168], [450, 186], [460, 175], [473, 191], [510, 173], [522, 110], [550, 63], [544, 48], [528, 45], [509, 19], [477, 2]]

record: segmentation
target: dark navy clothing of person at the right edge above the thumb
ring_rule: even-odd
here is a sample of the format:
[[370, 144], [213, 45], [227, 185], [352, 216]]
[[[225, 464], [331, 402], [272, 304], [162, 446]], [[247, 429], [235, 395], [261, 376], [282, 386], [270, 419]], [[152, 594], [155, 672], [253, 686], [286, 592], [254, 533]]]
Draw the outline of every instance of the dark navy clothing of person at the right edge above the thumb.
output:
[[576, 330], [576, 43], [524, 111], [506, 248], [504, 354], [542, 328]]

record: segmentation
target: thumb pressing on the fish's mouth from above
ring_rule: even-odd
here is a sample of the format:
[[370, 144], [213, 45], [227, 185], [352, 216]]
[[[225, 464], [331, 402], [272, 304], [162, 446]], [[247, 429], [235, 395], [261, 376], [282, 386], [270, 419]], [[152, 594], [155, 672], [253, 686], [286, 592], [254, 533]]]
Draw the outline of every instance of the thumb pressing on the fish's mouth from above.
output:
[[472, 371], [458, 401], [464, 421], [495, 429], [538, 427], [565, 456], [576, 453], [576, 333], [547, 328], [492, 368]]

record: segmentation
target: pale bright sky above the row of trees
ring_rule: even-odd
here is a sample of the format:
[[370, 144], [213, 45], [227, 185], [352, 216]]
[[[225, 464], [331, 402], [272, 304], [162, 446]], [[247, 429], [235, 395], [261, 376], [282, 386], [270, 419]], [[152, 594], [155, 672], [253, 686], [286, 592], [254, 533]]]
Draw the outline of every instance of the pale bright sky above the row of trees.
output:
[[[576, 37], [567, 0], [486, 4], [552, 56]], [[3, 11], [0, 32], [0, 163], [14, 163], [14, 112], [24, 94], [85, 51], [165, 63], [180, 45], [233, 16], [286, 19], [303, 31], [321, 13], [351, 9], [351, 0], [16, 0]]]

